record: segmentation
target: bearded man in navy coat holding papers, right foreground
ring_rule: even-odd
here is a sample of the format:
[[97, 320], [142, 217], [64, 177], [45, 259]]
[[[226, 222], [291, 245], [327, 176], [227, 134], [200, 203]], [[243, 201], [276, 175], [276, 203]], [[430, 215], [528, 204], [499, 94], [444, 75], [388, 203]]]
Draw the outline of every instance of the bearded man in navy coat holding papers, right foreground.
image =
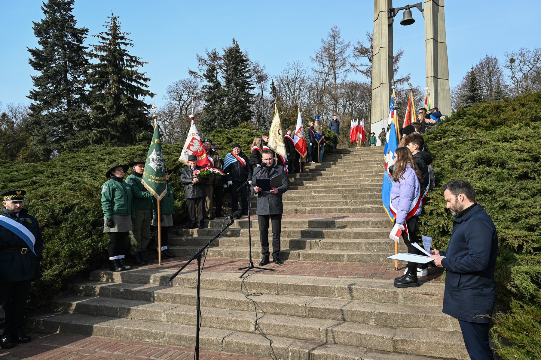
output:
[[496, 298], [494, 268], [498, 253], [496, 227], [475, 202], [473, 187], [464, 180], [447, 182], [445, 201], [453, 222], [446, 251], [431, 250], [436, 266], [447, 269], [443, 312], [458, 319], [466, 350], [472, 359], [493, 359], [489, 318]]

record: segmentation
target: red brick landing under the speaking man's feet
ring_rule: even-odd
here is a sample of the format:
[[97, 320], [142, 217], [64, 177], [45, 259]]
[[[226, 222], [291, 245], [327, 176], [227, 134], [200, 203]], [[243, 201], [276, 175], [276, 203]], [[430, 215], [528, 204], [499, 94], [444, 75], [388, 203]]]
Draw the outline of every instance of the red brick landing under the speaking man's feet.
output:
[[[175, 259], [167, 259], [162, 261], [159, 266], [156, 263], [137, 268], [161, 268], [161, 269], [178, 269], [186, 261], [188, 257], [176, 257]], [[260, 259], [253, 259], [254, 266], [259, 265]], [[247, 259], [228, 259], [222, 257], [208, 257], [204, 264], [204, 271], [242, 271], [239, 268], [248, 266]], [[268, 264], [266, 267], [276, 269], [276, 271], [253, 270], [254, 273], [265, 271], [266, 275], [307, 275], [321, 277], [352, 277], [357, 279], [378, 279], [378, 280], [394, 280], [395, 277], [401, 276], [405, 269], [405, 264], [399, 264], [399, 270], [394, 270], [393, 263], [362, 263], [362, 262], [317, 262], [317, 261], [292, 261], [286, 260], [282, 265]], [[188, 265], [187, 270], [195, 270], [197, 262], [194, 260]], [[442, 282], [442, 268], [428, 268], [428, 276], [420, 277], [422, 282]]]

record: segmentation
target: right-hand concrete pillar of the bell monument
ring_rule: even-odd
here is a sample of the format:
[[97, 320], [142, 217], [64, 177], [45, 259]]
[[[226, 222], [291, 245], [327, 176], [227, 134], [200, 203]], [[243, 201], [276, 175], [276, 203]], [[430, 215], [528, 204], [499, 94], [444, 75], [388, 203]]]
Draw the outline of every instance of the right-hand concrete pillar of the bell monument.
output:
[[431, 92], [430, 105], [438, 107], [443, 116], [449, 116], [451, 115], [451, 91], [444, 3], [445, 0], [425, 0], [426, 86]]

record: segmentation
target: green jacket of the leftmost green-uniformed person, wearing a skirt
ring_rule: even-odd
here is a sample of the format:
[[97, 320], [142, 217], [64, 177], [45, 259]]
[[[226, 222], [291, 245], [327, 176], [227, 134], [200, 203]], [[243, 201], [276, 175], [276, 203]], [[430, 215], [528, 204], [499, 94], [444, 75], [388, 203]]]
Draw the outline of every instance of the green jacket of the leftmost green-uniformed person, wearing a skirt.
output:
[[110, 179], [102, 185], [102, 209], [105, 219], [113, 215], [131, 215], [135, 218], [131, 189], [124, 181]]

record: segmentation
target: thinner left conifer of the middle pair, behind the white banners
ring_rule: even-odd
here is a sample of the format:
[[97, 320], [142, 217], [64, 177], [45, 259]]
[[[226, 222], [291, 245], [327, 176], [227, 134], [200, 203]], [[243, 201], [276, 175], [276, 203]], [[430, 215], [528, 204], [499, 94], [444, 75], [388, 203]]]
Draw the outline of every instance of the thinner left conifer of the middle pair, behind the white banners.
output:
[[205, 103], [203, 106], [204, 116], [198, 126], [202, 133], [209, 133], [214, 128], [222, 127], [224, 124], [223, 104], [225, 92], [220, 82], [221, 61], [222, 58], [216, 49], [207, 53], [205, 62], [207, 69], [202, 76], [206, 84], [201, 87]]

